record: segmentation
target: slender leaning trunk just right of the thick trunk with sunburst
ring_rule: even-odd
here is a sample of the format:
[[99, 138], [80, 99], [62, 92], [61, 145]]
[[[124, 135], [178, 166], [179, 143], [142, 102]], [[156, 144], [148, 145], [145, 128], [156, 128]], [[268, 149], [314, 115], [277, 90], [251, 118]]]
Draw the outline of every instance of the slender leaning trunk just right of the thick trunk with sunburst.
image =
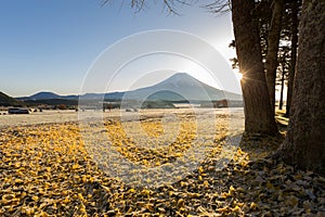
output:
[[272, 112], [275, 111], [275, 79], [277, 68], [277, 51], [281, 34], [284, 0], [273, 0], [273, 13], [268, 36], [268, 54], [265, 62], [266, 82], [271, 100]]

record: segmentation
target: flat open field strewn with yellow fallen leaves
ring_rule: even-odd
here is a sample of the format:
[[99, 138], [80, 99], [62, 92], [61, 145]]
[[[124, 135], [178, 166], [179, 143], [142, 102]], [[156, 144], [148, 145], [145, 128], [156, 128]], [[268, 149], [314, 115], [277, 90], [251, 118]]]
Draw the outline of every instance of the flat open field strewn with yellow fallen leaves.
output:
[[224, 111], [171, 112], [1, 116], [0, 216], [324, 216], [324, 177], [265, 158], [281, 138], [226, 152]]

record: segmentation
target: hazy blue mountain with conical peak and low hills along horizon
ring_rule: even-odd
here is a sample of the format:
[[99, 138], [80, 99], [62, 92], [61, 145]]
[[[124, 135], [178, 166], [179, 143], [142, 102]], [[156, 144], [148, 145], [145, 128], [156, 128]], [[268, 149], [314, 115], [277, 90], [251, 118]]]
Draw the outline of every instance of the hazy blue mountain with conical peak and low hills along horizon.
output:
[[219, 90], [208, 86], [186, 73], [177, 73], [169, 78], [145, 88], [125, 92], [86, 93], [82, 95], [58, 95], [53, 92], [38, 92], [30, 97], [18, 98], [23, 101], [48, 101], [68, 100], [75, 104], [78, 99], [93, 101], [121, 101], [121, 100], [145, 100], [145, 101], [170, 101], [170, 102], [194, 102], [194, 101], [242, 101], [242, 95]]

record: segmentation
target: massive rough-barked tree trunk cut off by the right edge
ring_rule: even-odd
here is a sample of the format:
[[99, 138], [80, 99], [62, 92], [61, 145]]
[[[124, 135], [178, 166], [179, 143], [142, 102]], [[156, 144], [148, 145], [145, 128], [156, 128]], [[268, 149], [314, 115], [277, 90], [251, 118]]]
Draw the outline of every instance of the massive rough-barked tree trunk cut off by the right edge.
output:
[[278, 154], [325, 174], [325, 1], [304, 0], [288, 132]]

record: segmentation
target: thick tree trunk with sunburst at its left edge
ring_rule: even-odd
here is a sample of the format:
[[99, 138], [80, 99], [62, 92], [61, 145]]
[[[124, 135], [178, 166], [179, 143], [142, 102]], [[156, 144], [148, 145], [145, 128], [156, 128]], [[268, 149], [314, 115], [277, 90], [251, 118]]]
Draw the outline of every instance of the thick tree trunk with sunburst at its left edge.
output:
[[243, 74], [240, 84], [245, 103], [245, 132], [274, 136], [277, 127], [271, 110], [258, 23], [252, 17], [253, 9], [253, 0], [232, 1], [236, 53]]

